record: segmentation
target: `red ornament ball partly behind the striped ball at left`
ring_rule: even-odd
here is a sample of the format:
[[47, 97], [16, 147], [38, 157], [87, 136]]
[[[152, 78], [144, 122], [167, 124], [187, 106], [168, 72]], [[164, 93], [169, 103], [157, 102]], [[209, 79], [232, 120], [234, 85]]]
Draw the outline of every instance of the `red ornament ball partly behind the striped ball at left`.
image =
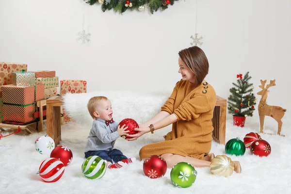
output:
[[67, 146], [57, 146], [51, 151], [50, 158], [58, 158], [67, 166], [73, 160], [73, 153]]

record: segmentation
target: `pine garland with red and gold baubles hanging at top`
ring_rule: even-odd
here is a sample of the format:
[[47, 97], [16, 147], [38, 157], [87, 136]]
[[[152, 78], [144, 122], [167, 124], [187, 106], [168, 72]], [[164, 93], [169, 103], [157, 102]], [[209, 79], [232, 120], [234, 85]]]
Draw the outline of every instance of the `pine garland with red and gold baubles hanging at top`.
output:
[[[154, 14], [158, 10], [165, 10], [169, 5], [173, 5], [176, 0], [166, 0], [166, 3], [162, 3], [163, 0], [84, 0], [89, 5], [102, 4], [101, 10], [114, 10], [114, 13], [124, 13], [127, 10], [144, 10], [144, 6], [148, 5], [150, 13]], [[130, 3], [130, 4], [129, 4]]]

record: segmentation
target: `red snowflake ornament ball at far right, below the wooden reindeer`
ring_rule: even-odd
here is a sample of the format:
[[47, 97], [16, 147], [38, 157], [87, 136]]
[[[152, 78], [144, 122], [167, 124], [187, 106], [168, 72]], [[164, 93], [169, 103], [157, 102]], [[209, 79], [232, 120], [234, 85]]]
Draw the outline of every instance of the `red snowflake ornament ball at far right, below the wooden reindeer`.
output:
[[256, 140], [251, 145], [251, 154], [255, 154], [259, 157], [268, 156], [271, 154], [271, 146], [265, 140]]

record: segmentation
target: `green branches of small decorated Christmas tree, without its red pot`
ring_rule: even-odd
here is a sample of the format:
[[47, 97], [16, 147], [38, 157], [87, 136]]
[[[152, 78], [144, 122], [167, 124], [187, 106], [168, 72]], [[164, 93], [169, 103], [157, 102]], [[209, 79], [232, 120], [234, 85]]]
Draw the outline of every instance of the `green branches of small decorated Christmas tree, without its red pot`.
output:
[[246, 72], [242, 78], [242, 74], [237, 75], [237, 83], [232, 83], [235, 87], [230, 88], [231, 93], [228, 97], [228, 113], [234, 116], [253, 116], [256, 105], [256, 97], [254, 96], [252, 83], [249, 80], [249, 72]]

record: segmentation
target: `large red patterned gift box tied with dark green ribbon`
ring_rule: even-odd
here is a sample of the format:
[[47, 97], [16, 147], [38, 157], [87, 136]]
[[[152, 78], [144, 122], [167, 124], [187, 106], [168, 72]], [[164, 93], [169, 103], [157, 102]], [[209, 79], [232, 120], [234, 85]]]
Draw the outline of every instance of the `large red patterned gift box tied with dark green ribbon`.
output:
[[43, 84], [35, 86], [2, 86], [3, 120], [28, 123], [37, 111], [35, 102], [45, 98]]

